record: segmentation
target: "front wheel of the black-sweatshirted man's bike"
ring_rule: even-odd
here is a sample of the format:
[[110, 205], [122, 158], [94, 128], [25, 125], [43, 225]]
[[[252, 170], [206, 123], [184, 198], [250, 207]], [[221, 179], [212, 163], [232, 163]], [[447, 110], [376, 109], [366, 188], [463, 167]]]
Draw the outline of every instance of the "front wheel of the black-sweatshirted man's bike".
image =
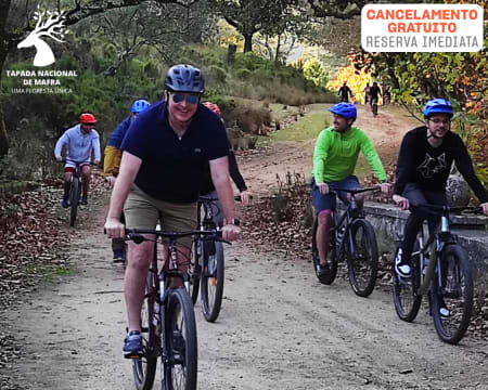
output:
[[[442, 283], [436, 272], [432, 288], [434, 326], [442, 341], [458, 343], [470, 325], [473, 310], [473, 277], [467, 252], [460, 245], [448, 245], [441, 255]], [[444, 302], [442, 302], [444, 300]], [[448, 316], [440, 314], [445, 307]]]

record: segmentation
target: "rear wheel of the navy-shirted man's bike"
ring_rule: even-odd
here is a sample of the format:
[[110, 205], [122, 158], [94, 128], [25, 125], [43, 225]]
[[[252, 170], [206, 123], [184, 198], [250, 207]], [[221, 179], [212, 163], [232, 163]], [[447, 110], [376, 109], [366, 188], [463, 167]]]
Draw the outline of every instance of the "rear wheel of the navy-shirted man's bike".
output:
[[[144, 355], [132, 360], [132, 374], [136, 389], [153, 388], [156, 375], [157, 356], [160, 346], [159, 303], [156, 301], [156, 271], [150, 270], [141, 309], [141, 336]], [[156, 307], [157, 306], [157, 307]]]

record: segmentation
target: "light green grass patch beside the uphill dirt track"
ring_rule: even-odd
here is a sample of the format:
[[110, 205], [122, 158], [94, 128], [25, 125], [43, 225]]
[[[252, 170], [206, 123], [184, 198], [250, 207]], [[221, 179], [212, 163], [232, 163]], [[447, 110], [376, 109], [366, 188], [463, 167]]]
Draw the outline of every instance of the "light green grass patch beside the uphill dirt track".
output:
[[272, 141], [307, 141], [314, 140], [320, 131], [329, 127], [330, 116], [325, 113], [312, 113], [297, 122], [279, 130], [270, 138]]

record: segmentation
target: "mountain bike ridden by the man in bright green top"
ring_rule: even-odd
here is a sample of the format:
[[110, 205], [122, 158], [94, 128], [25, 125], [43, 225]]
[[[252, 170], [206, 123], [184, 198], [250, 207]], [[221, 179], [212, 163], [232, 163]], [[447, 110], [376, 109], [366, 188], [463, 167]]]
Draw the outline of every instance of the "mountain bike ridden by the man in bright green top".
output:
[[368, 297], [373, 291], [376, 283], [377, 244], [373, 226], [364, 219], [363, 211], [359, 209], [356, 194], [370, 191], [375, 192], [380, 191], [380, 188], [334, 188], [330, 193], [337, 195], [337, 192], [341, 191], [349, 193], [350, 200], [341, 218], [336, 210], [332, 214], [328, 256], [329, 271], [324, 275], [319, 273], [320, 258], [316, 242], [317, 218], [312, 230], [313, 269], [319, 282], [330, 285], [337, 275], [338, 262], [346, 258], [352, 291], [360, 297]]

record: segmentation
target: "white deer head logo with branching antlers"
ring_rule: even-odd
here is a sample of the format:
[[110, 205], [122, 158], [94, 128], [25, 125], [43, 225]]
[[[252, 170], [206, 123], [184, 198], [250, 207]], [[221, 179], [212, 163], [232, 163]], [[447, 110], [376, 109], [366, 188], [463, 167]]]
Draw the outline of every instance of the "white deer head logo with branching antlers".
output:
[[[42, 18], [47, 17], [42, 23]], [[17, 44], [18, 49], [36, 47], [36, 56], [34, 57], [34, 66], [48, 66], [54, 63], [54, 53], [48, 43], [41, 37], [50, 37], [57, 42], [64, 42], [64, 34], [66, 29], [63, 26], [65, 16], [60, 12], [41, 11], [37, 5], [37, 11], [34, 13], [34, 20], [37, 21], [34, 30]], [[61, 39], [56, 38], [59, 36]]]

